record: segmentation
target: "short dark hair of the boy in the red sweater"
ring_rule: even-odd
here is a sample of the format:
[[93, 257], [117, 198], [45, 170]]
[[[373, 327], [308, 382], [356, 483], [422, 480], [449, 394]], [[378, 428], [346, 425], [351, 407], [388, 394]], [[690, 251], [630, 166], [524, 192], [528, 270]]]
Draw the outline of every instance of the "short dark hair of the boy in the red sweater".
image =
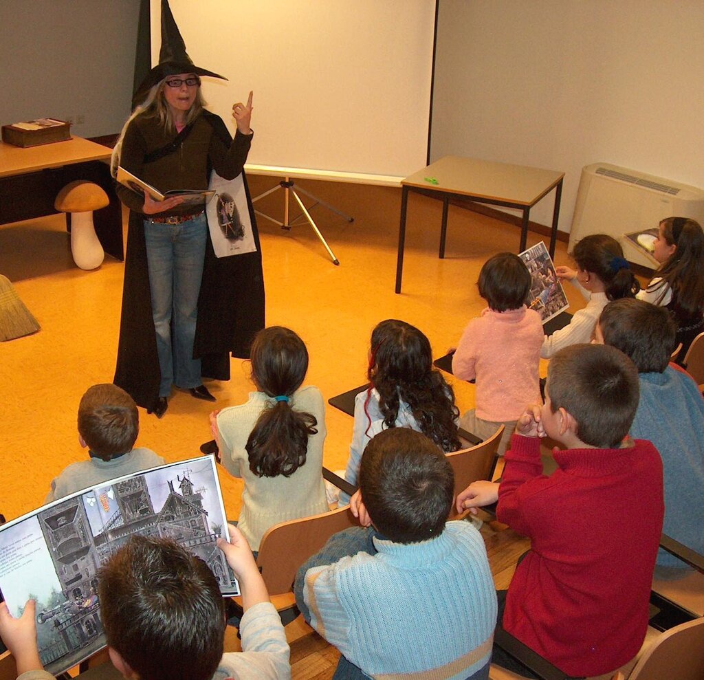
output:
[[564, 408], [585, 444], [617, 448], [638, 408], [638, 370], [615, 347], [572, 345], [550, 360], [546, 392], [553, 413]]

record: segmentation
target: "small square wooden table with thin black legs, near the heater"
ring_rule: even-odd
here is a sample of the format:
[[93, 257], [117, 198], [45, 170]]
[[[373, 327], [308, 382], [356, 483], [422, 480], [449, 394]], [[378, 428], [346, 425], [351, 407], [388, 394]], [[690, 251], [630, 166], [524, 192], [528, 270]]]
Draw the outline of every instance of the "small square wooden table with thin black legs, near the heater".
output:
[[[555, 170], [492, 163], [489, 160], [461, 158], [460, 156], [444, 156], [444, 158], [428, 165], [427, 168], [406, 177], [401, 181], [401, 224], [398, 227], [396, 293], [401, 292], [409, 191], [437, 194], [437, 198], [443, 201], [439, 257], [444, 258], [447, 214], [451, 196], [466, 196], [477, 203], [489, 203], [491, 206], [522, 210], [521, 242], [520, 248], [518, 248], [520, 253], [526, 249], [530, 209], [543, 196], [555, 189], [555, 208], [549, 248], [552, 257], [555, 255], [555, 237], [558, 233], [560, 197], [562, 196], [562, 179], [564, 177], [564, 172], [556, 172]], [[426, 178], [435, 179], [437, 183], [428, 182]]]

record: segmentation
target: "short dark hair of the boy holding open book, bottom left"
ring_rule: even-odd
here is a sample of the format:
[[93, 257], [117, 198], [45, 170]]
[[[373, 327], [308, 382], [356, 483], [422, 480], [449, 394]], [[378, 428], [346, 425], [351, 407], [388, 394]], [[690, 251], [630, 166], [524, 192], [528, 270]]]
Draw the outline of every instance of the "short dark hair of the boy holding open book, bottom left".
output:
[[168, 539], [132, 536], [98, 572], [108, 646], [140, 680], [210, 680], [225, 607], [203, 560]]

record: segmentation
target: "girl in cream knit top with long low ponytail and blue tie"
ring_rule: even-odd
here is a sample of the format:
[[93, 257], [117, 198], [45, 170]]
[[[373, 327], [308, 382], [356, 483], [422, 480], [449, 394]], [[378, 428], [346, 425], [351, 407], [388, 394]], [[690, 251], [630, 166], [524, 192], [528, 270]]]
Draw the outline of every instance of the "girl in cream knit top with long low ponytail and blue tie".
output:
[[244, 479], [239, 529], [252, 550], [279, 522], [325, 512], [322, 446], [325, 402], [317, 387], [301, 387], [308, 350], [288, 328], [258, 332], [251, 348], [255, 392], [211, 416], [222, 465]]

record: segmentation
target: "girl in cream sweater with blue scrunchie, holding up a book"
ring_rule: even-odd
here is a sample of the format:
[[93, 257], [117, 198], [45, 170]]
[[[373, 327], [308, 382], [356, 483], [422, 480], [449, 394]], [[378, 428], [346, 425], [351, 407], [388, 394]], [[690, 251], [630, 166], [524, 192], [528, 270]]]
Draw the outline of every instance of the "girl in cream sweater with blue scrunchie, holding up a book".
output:
[[551, 358], [564, 347], [589, 343], [607, 303], [632, 298], [641, 289], [619, 242], [606, 234], [591, 234], [578, 241], [572, 258], [577, 270], [555, 267], [555, 273], [582, 293], [586, 307], [579, 310], [567, 326], [545, 336], [540, 351], [543, 359]]

